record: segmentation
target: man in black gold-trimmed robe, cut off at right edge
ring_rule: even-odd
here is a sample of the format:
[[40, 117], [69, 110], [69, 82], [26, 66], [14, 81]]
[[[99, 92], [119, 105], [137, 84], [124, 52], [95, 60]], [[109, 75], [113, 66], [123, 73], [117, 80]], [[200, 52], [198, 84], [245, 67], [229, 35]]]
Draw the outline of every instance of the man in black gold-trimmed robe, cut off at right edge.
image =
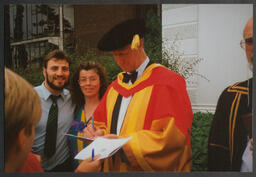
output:
[[[241, 47], [252, 69], [253, 18]], [[252, 78], [227, 87], [219, 97], [208, 142], [208, 170], [252, 172]]]

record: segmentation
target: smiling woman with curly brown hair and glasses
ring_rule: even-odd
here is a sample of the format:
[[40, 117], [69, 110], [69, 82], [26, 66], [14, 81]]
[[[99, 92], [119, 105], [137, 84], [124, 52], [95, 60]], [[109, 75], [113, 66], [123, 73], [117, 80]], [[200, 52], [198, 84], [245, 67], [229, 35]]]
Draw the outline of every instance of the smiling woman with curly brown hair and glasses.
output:
[[[76, 105], [75, 119], [69, 133], [83, 136], [83, 129], [91, 121], [92, 115], [107, 88], [105, 69], [96, 62], [84, 62], [77, 66], [71, 78], [70, 93]], [[86, 147], [78, 138], [69, 137], [73, 156]], [[77, 165], [77, 161], [76, 161]]]

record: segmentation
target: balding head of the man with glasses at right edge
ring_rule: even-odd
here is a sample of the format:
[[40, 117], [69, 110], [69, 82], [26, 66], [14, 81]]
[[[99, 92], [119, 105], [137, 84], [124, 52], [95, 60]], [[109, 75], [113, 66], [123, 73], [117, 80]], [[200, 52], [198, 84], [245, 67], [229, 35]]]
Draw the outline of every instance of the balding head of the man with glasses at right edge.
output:
[[[245, 27], [244, 27], [244, 33], [243, 37], [245, 41], [247, 41], [249, 38], [253, 37], [253, 17], [251, 17]], [[246, 57], [247, 61], [252, 64], [252, 56], [253, 56], [253, 43], [246, 42], [245, 43], [245, 52], [246, 52]]]

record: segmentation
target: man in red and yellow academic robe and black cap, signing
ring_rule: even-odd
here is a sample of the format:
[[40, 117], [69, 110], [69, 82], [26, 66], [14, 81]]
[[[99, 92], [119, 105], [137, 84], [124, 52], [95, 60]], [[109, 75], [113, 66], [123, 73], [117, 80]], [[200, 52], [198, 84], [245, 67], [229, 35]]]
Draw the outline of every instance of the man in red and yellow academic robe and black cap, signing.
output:
[[193, 119], [184, 78], [151, 63], [144, 51], [145, 22], [129, 19], [98, 42], [124, 71], [108, 87], [85, 137], [132, 137], [104, 161], [104, 171], [190, 171]]

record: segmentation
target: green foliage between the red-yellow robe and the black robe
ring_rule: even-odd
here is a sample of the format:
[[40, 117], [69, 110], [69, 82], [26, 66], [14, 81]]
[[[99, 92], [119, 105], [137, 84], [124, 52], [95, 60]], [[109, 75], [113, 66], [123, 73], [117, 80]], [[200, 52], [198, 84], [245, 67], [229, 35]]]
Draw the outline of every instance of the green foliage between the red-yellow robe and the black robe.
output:
[[191, 128], [192, 171], [207, 171], [208, 137], [212, 120], [212, 113], [194, 114]]

